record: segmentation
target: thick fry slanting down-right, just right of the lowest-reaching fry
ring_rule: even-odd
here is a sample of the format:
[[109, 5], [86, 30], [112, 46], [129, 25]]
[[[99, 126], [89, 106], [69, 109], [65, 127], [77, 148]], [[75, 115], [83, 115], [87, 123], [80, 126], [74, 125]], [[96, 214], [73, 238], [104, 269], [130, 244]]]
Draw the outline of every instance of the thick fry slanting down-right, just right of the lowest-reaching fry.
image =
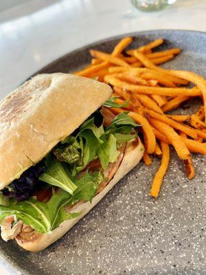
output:
[[150, 123], [157, 130], [163, 133], [163, 135], [168, 137], [168, 140], [170, 140], [174, 146], [174, 149], [180, 159], [188, 159], [190, 157], [190, 151], [188, 151], [185, 143], [181, 140], [181, 137], [176, 133], [176, 131], [174, 131], [171, 126], [159, 120], [155, 120], [154, 118], [150, 118]]

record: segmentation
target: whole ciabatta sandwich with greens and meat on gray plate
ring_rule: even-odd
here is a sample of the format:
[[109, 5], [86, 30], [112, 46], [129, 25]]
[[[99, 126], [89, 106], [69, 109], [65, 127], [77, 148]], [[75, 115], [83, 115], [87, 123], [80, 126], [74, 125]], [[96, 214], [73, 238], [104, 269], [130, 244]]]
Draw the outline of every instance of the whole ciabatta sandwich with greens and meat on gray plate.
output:
[[38, 252], [58, 240], [136, 166], [138, 125], [110, 86], [39, 74], [0, 103], [0, 225]]

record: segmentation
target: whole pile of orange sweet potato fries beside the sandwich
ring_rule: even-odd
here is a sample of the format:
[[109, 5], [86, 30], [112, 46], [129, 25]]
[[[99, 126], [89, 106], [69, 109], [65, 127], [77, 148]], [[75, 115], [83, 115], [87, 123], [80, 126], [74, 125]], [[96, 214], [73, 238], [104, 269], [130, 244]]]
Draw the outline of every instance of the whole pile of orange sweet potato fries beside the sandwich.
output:
[[[206, 154], [206, 80], [192, 72], [158, 67], [181, 52], [179, 48], [152, 52], [163, 44], [163, 39], [127, 50], [132, 42], [132, 37], [125, 37], [111, 54], [91, 50], [91, 65], [75, 74], [97, 77], [111, 85], [113, 96], [119, 96], [115, 100], [118, 104], [129, 100], [126, 107], [110, 108], [110, 111], [115, 114], [128, 111], [141, 125], [146, 165], [152, 164], [150, 155], [161, 156], [161, 165], [150, 190], [150, 195], [156, 198], [169, 165], [170, 144], [183, 160], [189, 179], [195, 175], [191, 153]], [[192, 87], [188, 87], [190, 83]], [[194, 97], [203, 102], [197, 113], [168, 114]]]

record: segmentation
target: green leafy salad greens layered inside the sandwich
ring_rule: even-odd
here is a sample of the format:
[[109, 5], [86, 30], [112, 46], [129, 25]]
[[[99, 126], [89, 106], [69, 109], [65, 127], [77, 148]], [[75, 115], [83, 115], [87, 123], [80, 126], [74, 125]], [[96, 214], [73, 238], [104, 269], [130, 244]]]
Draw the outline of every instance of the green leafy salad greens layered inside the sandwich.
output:
[[[112, 100], [107, 104], [114, 106]], [[117, 115], [106, 128], [103, 124], [96, 126], [94, 117], [89, 118], [44, 159], [45, 170], [39, 179], [58, 186], [59, 192], [53, 189], [52, 197], [47, 202], [38, 201], [34, 197], [19, 202], [0, 197], [0, 222], [7, 216], [15, 215], [37, 232], [46, 233], [57, 228], [62, 221], [78, 217], [80, 213], [68, 213], [65, 207], [73, 206], [81, 200], [91, 202], [98, 186], [104, 181], [101, 170], [93, 173], [86, 170], [88, 164], [99, 158], [102, 168], [106, 169], [109, 163], [115, 162], [119, 155], [119, 144], [135, 137], [136, 126], [127, 113]], [[86, 172], [82, 177], [76, 177], [84, 169]]]

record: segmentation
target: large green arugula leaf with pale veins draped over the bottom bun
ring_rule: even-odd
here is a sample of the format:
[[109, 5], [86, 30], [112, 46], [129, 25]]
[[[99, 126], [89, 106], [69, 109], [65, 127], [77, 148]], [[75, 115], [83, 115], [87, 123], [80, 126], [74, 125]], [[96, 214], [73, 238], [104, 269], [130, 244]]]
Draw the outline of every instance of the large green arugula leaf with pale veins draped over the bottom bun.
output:
[[80, 213], [67, 213], [64, 207], [72, 206], [80, 200], [91, 202], [102, 181], [104, 176], [100, 171], [93, 174], [86, 172], [75, 181], [77, 188], [73, 196], [65, 190], [60, 190], [60, 193], [53, 190], [52, 198], [45, 203], [30, 198], [14, 205], [10, 203], [9, 206], [0, 206], [0, 221], [13, 214], [42, 234], [51, 232], [62, 221], [78, 217]]

